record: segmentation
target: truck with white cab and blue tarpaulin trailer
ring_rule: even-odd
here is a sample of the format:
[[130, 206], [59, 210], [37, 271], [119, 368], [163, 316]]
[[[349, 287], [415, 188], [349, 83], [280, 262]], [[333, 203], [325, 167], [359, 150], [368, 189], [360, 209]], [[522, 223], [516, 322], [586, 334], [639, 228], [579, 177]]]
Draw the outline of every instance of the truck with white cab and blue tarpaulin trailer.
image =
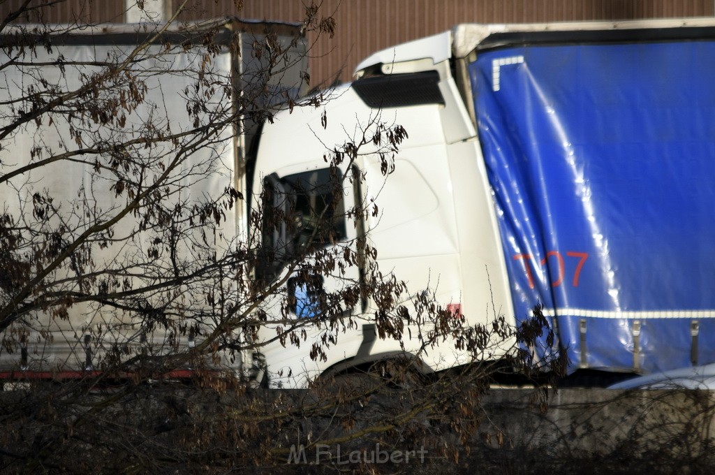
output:
[[[365, 240], [408, 287], [396, 304], [429, 291], [467, 325], [503, 315], [518, 327], [541, 306], [556, 339], [533, 353], [561, 352], [568, 373], [712, 363], [714, 57], [713, 19], [460, 24], [371, 55], [324, 107], [277, 114], [262, 128], [253, 182], [295, 203], [311, 195], [296, 183], [330, 182], [332, 168], [363, 174], [360, 187], [344, 181], [342, 200], [375, 212], [340, 224], [324, 249]], [[408, 136], [387, 174], [370, 143], [350, 169], [329, 167], [326, 150], [378, 122]], [[263, 232], [268, 246], [291, 239]], [[287, 315], [315, 318], [320, 295], [361, 272], [287, 286]], [[306, 347], [325, 330], [290, 346], [275, 342], [285, 327], [265, 325], [258, 378], [300, 388], [397, 355], [422, 371], [474, 360], [449, 339], [420, 347], [409, 319], [402, 338], [380, 338], [374, 302], [342, 311], [359, 323], [336, 330], [320, 358]], [[498, 361], [512, 345], [480, 358]]]

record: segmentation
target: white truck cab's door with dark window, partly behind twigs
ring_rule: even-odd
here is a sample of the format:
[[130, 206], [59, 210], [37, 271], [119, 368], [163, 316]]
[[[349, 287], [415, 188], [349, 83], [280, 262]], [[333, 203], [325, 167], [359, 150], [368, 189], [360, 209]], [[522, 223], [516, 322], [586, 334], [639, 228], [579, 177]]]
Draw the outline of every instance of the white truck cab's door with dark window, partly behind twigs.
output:
[[280, 331], [293, 335], [283, 339], [285, 347], [269, 344], [259, 350], [274, 381], [310, 380], [355, 356], [363, 341], [362, 325], [354, 320], [367, 305], [357, 245], [363, 225], [355, 217], [362, 213], [351, 212], [362, 202], [358, 180], [345, 176], [352, 170], [306, 168], [287, 167], [264, 180], [262, 239], [272, 262], [262, 279], [285, 285], [267, 308], [269, 320], [280, 328], [266, 325], [261, 339], [275, 339]]

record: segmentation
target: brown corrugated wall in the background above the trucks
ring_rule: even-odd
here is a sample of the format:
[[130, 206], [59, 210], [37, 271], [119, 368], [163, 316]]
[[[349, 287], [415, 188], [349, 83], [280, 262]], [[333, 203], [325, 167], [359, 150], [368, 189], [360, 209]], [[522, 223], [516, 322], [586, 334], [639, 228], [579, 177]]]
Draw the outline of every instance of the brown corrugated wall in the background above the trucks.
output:
[[[24, 0], [0, 4], [2, 18]], [[182, 0], [172, 1], [174, 6]], [[33, 0], [34, 4], [47, 0]], [[238, 0], [189, 0], [183, 19], [239, 14]], [[302, 21], [310, 0], [243, 0], [246, 19]], [[450, 29], [457, 23], [511, 23], [594, 19], [714, 16], [715, 0], [315, 0], [332, 15], [335, 36], [317, 37], [311, 52], [313, 84], [350, 79], [361, 59], [378, 49]], [[67, 0], [44, 9], [44, 20], [123, 21], [123, 0]], [[36, 18], [35, 18], [36, 19]]]

